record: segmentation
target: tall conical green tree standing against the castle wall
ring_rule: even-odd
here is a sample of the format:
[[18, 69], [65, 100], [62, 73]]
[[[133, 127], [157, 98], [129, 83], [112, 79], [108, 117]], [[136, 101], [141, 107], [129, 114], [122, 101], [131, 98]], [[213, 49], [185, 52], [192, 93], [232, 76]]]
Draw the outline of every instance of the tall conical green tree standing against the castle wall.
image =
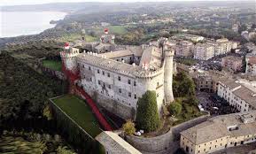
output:
[[155, 91], [146, 91], [138, 100], [136, 126], [151, 132], [159, 127], [159, 112]]

